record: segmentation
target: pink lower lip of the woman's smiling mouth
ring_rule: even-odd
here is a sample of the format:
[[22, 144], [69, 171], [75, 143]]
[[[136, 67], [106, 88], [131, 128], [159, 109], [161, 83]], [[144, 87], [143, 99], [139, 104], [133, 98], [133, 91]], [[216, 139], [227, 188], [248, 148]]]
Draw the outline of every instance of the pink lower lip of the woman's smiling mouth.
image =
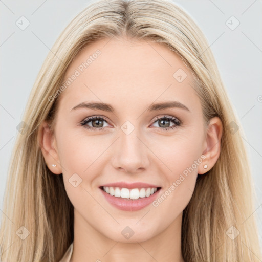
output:
[[124, 211], [137, 211], [152, 203], [157, 198], [161, 188], [149, 197], [135, 200], [116, 198], [114, 195], [107, 194], [103, 189], [100, 188], [100, 190], [102, 191], [105, 199], [114, 207]]

